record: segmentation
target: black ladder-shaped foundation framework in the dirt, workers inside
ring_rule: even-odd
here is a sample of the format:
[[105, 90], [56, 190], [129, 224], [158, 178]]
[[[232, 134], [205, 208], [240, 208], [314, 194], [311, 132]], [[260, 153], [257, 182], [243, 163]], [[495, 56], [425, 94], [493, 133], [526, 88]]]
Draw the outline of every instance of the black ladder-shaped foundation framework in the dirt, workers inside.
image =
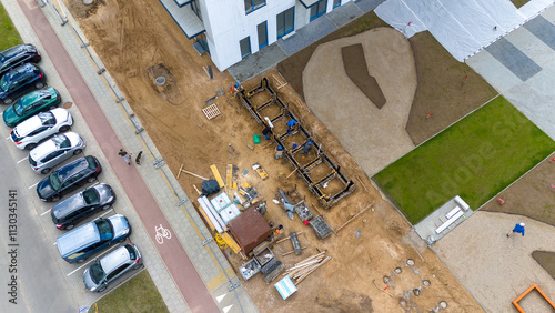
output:
[[[270, 99], [260, 105], [254, 105], [251, 99], [262, 92], [268, 92]], [[268, 132], [269, 138], [276, 147], [281, 145], [283, 148], [285, 158], [294, 169], [293, 172], [296, 172], [301, 176], [301, 179], [309, 186], [309, 190], [319, 199], [324, 209], [330, 209], [342, 198], [346, 196], [355, 190], [355, 183], [352, 180], [347, 179], [345, 174], [341, 172], [341, 166], [339, 164], [335, 164], [330, 159], [330, 156], [327, 156], [327, 154], [324, 152], [324, 149], [322, 148], [322, 144], [319, 144], [316, 142], [313, 135], [302, 125], [300, 119], [293, 112], [291, 112], [289, 105], [285, 105], [283, 103], [283, 101], [278, 97], [278, 93], [270, 87], [266, 78], [263, 78], [260, 81], [260, 85], [255, 87], [252, 90], [246, 91], [242, 89], [236, 93], [236, 97], [240, 99], [243, 107], [249, 110], [256, 123], [262, 125], [263, 129], [271, 128]], [[268, 110], [273, 105], [276, 105], [280, 113], [278, 113], [273, 118], [263, 118], [263, 115], [261, 115], [261, 112], [263, 110]], [[276, 133], [275, 128], [272, 128], [272, 125], [280, 120], [295, 120], [297, 123], [295, 124], [294, 130], [287, 129], [287, 131], [283, 133]], [[297, 133], [302, 135], [304, 142], [297, 144], [295, 148], [287, 149], [286, 144], [284, 143], [285, 140], [289, 137]], [[313, 150], [316, 150], [315, 158], [306, 164], [302, 164], [302, 162], [297, 160], [297, 158], [299, 154], [302, 155], [303, 152], [306, 151], [305, 147], [307, 144], [307, 148], [310, 148], [309, 142], [311, 142], [312, 147], [314, 147]], [[327, 165], [330, 171], [323, 178], [314, 180], [311, 175], [311, 170], [320, 164]], [[324, 189], [326, 188], [327, 183], [334, 179], [337, 179], [337, 181], [341, 182], [341, 190], [335, 194], [325, 193]]]

